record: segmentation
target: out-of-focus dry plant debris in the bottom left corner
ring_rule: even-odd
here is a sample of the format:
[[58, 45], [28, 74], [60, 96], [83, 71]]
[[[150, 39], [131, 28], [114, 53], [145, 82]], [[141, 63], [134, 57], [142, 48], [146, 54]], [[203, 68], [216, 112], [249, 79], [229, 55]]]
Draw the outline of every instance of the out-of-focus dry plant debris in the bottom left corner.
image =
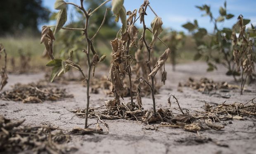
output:
[[0, 115], [0, 152], [33, 151], [36, 154], [65, 154], [76, 150], [66, 147], [71, 137], [52, 126], [21, 126], [25, 120], [11, 121]]

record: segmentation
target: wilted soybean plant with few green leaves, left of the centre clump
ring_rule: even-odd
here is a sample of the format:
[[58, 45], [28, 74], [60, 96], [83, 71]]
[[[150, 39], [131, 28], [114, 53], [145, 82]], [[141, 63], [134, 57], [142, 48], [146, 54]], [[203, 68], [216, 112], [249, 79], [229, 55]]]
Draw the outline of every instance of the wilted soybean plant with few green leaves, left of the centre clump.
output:
[[[109, 10], [108, 8], [105, 11], [104, 14], [104, 19], [100, 25], [100, 27], [98, 28], [98, 30], [95, 32], [95, 34], [90, 38], [88, 36], [88, 29], [89, 29], [89, 19], [90, 16], [92, 16], [94, 13], [96, 13], [96, 11], [105, 3], [109, 2], [110, 0], [106, 0], [105, 2], [103, 2], [100, 6], [98, 6], [97, 8], [95, 8], [94, 10], [85, 10], [84, 6], [83, 6], [83, 0], [80, 0], [81, 4], [77, 5], [71, 2], [65, 2], [64, 0], [56, 0], [55, 2], [55, 9], [58, 9], [58, 15], [57, 15], [57, 22], [56, 22], [56, 26], [51, 26], [51, 27], [55, 27], [54, 32], [52, 32], [52, 30], [50, 29], [50, 26], [43, 26], [42, 28], [42, 35], [41, 35], [41, 43], [45, 44], [45, 50], [47, 51], [48, 55], [50, 56], [50, 58], [52, 59], [50, 62], [47, 63], [48, 67], [53, 67], [52, 68], [52, 73], [50, 75], [50, 81], [52, 82], [54, 80], [54, 78], [56, 76], [61, 76], [62, 74], [66, 73], [67, 71], [69, 71], [70, 67], [73, 67], [75, 69], [77, 69], [78, 71], [81, 72], [81, 74], [84, 77], [84, 80], [87, 83], [87, 105], [86, 105], [86, 117], [85, 117], [85, 128], [88, 128], [88, 109], [89, 109], [89, 103], [90, 103], [90, 76], [91, 76], [91, 72], [95, 71], [95, 66], [97, 65], [98, 62], [101, 62], [104, 60], [104, 58], [106, 57], [106, 55], [102, 55], [102, 57], [99, 58], [99, 55], [97, 54], [97, 52], [94, 49], [93, 43], [92, 41], [95, 39], [96, 35], [98, 34], [98, 32], [100, 31], [100, 29], [102, 28], [102, 25], [105, 22], [106, 19], [106, 15], [107, 15], [107, 11]], [[85, 25], [83, 28], [64, 28], [63, 25], [66, 23], [67, 20], [67, 9], [66, 9], [66, 5], [73, 5], [74, 7], [76, 7], [77, 9], [81, 10], [83, 12], [83, 15], [85, 16]], [[61, 59], [55, 59], [55, 57], [53, 56], [53, 41], [55, 40], [55, 34], [56, 32], [58, 32], [60, 29], [64, 29], [64, 30], [78, 30], [78, 31], [82, 31], [83, 35], [85, 36], [86, 39], [86, 49], [83, 49], [83, 52], [87, 55], [86, 59], [87, 59], [87, 63], [88, 63], [88, 74], [87, 76], [85, 76], [85, 74], [83, 73], [83, 69], [81, 69], [81, 67], [78, 64], [75, 64], [74, 62], [72, 62], [72, 55], [73, 52], [71, 51], [70, 53], [70, 58], [68, 60], [61, 60]]]

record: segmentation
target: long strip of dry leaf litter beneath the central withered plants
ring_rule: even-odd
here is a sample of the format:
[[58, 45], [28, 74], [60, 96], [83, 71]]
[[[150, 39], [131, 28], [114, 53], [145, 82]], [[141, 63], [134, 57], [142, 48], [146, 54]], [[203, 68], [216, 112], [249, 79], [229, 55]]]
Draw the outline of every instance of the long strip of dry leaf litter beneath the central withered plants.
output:
[[[170, 95], [170, 97], [173, 95]], [[168, 98], [168, 102], [171, 98]], [[249, 100], [247, 103], [233, 103], [226, 105], [219, 104], [216, 107], [211, 106], [205, 102], [205, 111], [200, 111], [201, 114], [190, 114], [190, 111], [181, 108], [178, 99], [173, 96], [176, 103], [178, 103], [180, 112], [173, 113], [171, 108], [159, 109], [156, 113], [152, 110], [143, 110], [135, 103], [121, 102], [121, 105], [116, 105], [114, 100], [105, 101], [104, 106], [89, 109], [89, 118], [97, 118], [99, 120], [137, 120], [147, 124], [144, 128], [151, 130], [158, 130], [159, 127], [167, 126], [171, 128], [181, 128], [185, 131], [197, 132], [206, 129], [221, 130], [224, 129], [221, 121], [225, 120], [243, 120], [243, 116], [256, 116], [256, 104], [254, 99]], [[248, 104], [250, 103], [250, 104]], [[248, 105], [247, 105], [248, 104]], [[184, 112], [184, 110], [186, 112]], [[85, 117], [85, 110], [70, 110], [76, 113], [79, 117]], [[197, 111], [199, 112], [199, 111]], [[149, 125], [149, 123], [160, 123]], [[219, 123], [219, 124], [218, 124]]]

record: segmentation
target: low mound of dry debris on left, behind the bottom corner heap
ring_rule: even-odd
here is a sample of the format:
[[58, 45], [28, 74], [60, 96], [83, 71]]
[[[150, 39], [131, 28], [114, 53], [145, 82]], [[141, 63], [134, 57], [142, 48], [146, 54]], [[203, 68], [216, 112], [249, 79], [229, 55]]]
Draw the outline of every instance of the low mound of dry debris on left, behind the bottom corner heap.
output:
[[11, 90], [0, 93], [0, 99], [6, 101], [23, 101], [24, 103], [43, 103], [73, 97], [66, 89], [53, 87], [46, 81], [37, 83], [17, 83]]

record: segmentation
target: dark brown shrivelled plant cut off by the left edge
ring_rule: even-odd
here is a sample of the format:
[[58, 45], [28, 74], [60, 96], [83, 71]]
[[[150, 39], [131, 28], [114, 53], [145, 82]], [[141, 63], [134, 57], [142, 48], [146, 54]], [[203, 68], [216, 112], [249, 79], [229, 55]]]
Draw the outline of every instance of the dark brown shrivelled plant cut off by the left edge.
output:
[[8, 79], [8, 76], [7, 76], [7, 67], [6, 67], [6, 64], [7, 64], [7, 53], [5, 51], [5, 47], [0, 43], [0, 60], [1, 60], [1, 53], [4, 53], [5, 54], [5, 63], [4, 63], [4, 66], [2, 67], [2, 70], [1, 70], [1, 82], [0, 82], [0, 91], [3, 89], [3, 87], [5, 87], [5, 85], [8, 83], [7, 82], [7, 79]]

